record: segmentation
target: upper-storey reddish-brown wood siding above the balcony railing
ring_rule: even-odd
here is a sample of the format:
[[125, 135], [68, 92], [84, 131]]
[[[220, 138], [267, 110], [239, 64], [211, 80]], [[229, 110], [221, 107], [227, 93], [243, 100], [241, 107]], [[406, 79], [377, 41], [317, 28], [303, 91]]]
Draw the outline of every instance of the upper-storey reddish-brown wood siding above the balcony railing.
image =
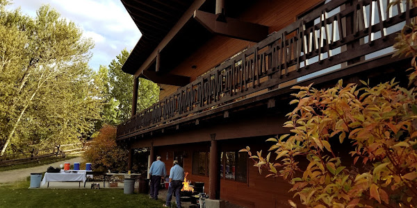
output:
[[[273, 33], [293, 23], [297, 15], [302, 14], [302, 12], [320, 1], [322, 0], [259, 1], [252, 8], [248, 9], [245, 14], [241, 15], [239, 19], [269, 26], [269, 33]], [[191, 81], [193, 81], [198, 76], [213, 69], [213, 67], [227, 60], [227, 58], [230, 58], [232, 55], [246, 49], [252, 44], [254, 43], [216, 35], [195, 51], [193, 55], [190, 55], [186, 60], [181, 62], [171, 73], [189, 76]], [[192, 69], [191, 66], [193, 65], [197, 66], [197, 68]], [[160, 100], [176, 92], [178, 89], [178, 87], [170, 85], [161, 85], [161, 88], [164, 90], [160, 92]]]

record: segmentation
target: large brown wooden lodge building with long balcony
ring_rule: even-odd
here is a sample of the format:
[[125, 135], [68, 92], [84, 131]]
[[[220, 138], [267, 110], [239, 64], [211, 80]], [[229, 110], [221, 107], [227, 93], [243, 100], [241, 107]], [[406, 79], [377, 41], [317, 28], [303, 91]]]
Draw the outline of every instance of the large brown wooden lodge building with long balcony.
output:
[[265, 139], [288, 132], [293, 85], [404, 78], [409, 60], [391, 55], [417, 13], [405, 2], [387, 10], [389, 0], [122, 0], [142, 33], [122, 70], [134, 89], [147, 78], [161, 92], [137, 112], [134, 90], [117, 141], [130, 152], [150, 148], [167, 170], [179, 159], [212, 199], [289, 207], [291, 185], [259, 175], [238, 150], [265, 152]]

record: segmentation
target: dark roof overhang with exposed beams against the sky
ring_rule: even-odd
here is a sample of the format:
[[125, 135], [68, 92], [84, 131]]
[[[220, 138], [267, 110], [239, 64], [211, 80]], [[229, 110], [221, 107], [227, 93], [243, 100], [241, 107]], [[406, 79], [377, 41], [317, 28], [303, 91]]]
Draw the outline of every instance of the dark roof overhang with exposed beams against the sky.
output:
[[[178, 1], [160, 0], [152, 1], [154, 2], [152, 6], [142, 0], [122, 0], [142, 32], [142, 38], [129, 55], [122, 71], [135, 77], [147, 78], [155, 83], [187, 85], [190, 83], [190, 77], [174, 75], [170, 71], [214, 35], [225, 35], [252, 42], [259, 42], [267, 37], [268, 26], [231, 18], [238, 17], [252, 5], [249, 0], [244, 1], [245, 3], [236, 5], [227, 1], [229, 5], [233, 5], [229, 6], [232, 9], [227, 10], [228, 17], [218, 21], [218, 16], [213, 14], [215, 1], [183, 1], [180, 6], [175, 4]], [[167, 7], [167, 3], [176, 6]], [[178, 15], [181, 11], [183, 11], [181, 15]], [[149, 14], [150, 12], [152, 14]], [[173, 14], [168, 15], [169, 12]], [[155, 15], [161, 17], [154, 17]], [[166, 18], [170, 18], [170, 22], [163, 22], [167, 20]]]

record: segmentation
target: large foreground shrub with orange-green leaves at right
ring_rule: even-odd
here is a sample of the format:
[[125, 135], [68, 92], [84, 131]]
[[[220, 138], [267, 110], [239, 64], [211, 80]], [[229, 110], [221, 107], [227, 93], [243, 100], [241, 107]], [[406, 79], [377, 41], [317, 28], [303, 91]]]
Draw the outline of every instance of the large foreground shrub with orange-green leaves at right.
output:
[[[293, 184], [290, 191], [307, 207], [417, 205], [417, 26], [406, 26], [397, 41], [396, 55], [414, 56], [409, 89], [394, 80], [375, 87], [361, 81], [361, 89], [342, 80], [329, 89], [293, 87], [300, 90], [291, 101], [297, 107], [284, 124], [291, 134], [268, 139], [274, 144], [266, 156], [250, 147], [240, 151], [259, 173], [265, 168], [266, 177]], [[351, 158], [334, 153], [332, 145], [343, 141], [350, 142]]]

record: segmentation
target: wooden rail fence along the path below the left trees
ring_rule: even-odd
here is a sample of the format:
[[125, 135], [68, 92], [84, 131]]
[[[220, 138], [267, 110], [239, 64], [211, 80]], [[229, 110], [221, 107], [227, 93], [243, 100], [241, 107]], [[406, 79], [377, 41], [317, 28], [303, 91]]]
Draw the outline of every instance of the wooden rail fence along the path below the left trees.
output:
[[0, 156], [0, 166], [10, 166], [15, 164], [25, 164], [40, 159], [51, 157], [65, 157], [67, 155], [75, 155], [84, 152], [87, 143], [63, 144], [54, 146], [53, 148], [36, 149], [30, 151], [22, 151], [20, 153]]

